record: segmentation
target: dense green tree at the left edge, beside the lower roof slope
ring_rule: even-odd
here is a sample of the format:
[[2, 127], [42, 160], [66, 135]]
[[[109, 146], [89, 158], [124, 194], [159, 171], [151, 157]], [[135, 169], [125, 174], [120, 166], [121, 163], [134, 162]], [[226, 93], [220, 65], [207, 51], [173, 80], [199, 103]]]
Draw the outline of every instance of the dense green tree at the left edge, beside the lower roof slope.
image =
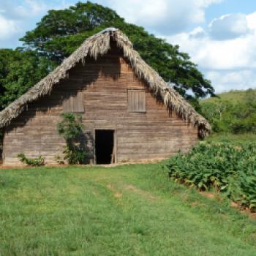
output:
[[34, 51], [0, 50], [0, 110], [48, 74], [50, 62]]

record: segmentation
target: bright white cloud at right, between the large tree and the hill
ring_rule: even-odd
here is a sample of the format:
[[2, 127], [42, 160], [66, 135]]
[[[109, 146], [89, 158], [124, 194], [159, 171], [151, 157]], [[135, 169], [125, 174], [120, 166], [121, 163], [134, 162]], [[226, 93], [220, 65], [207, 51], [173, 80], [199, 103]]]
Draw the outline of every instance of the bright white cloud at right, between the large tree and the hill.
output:
[[217, 41], [197, 27], [189, 33], [167, 37], [167, 41], [180, 45], [181, 50], [188, 52], [205, 69], [256, 67], [256, 31], [246, 37]]

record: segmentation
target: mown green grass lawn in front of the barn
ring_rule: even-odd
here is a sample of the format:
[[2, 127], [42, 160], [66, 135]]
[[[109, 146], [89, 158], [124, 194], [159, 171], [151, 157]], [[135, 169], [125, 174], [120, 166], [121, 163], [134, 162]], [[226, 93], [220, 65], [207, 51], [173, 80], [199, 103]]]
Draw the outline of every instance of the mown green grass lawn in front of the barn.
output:
[[253, 255], [256, 221], [161, 165], [0, 170], [0, 255]]

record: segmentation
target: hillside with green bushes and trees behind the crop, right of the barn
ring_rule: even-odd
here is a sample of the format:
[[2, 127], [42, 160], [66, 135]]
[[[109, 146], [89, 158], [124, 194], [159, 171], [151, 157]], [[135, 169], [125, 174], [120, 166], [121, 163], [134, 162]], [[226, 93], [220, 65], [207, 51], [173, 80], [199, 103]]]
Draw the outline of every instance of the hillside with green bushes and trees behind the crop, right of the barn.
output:
[[256, 134], [256, 89], [229, 91], [200, 101], [213, 132]]

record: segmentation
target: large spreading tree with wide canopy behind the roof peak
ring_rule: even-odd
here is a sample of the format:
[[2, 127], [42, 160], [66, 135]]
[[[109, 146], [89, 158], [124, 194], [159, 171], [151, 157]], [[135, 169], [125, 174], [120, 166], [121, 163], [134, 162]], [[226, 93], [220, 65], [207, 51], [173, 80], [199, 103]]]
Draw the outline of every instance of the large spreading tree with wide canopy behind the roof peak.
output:
[[140, 26], [126, 23], [115, 11], [90, 1], [78, 2], [65, 10], [50, 10], [37, 27], [26, 32], [20, 40], [27, 49], [61, 63], [87, 37], [110, 26], [124, 31], [140, 56], [166, 82], [174, 83], [180, 94], [192, 99], [193, 105], [197, 105], [200, 97], [214, 95], [211, 82], [203, 77], [187, 53], [179, 51], [178, 45], [170, 45], [164, 39], [148, 34]]

